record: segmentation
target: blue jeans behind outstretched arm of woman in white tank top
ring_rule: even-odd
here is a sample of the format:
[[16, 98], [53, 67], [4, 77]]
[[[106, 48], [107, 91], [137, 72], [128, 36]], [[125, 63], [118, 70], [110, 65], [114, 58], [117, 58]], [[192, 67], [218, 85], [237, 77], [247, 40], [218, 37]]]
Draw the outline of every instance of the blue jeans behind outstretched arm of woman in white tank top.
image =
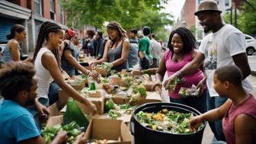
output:
[[59, 100], [59, 85], [55, 81], [50, 83], [49, 87], [49, 93], [48, 93], [48, 98], [49, 98], [49, 104], [52, 105], [56, 101]]

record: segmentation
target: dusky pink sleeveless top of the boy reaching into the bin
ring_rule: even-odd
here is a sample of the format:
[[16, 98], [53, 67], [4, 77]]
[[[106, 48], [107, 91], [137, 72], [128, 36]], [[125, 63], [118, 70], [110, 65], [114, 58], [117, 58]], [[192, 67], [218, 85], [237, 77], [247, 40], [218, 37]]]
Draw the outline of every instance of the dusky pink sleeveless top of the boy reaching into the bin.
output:
[[239, 114], [248, 114], [256, 119], [256, 99], [252, 95], [237, 107], [232, 102], [226, 116], [222, 120], [222, 129], [228, 144], [235, 144], [235, 118]]

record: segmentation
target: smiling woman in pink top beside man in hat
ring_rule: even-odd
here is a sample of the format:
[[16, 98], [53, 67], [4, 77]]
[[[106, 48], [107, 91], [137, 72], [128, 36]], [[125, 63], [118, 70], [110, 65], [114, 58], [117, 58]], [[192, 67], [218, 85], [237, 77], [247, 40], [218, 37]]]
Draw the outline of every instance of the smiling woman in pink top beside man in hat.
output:
[[[158, 71], [155, 74], [157, 83], [153, 88], [162, 86], [165, 72], [167, 72], [168, 77], [170, 77], [175, 72], [182, 69], [187, 62], [192, 61], [197, 53], [197, 51], [194, 50], [195, 47], [195, 37], [190, 30], [187, 30], [185, 27], [179, 27], [173, 30], [168, 41], [169, 50], [162, 56]], [[170, 101], [194, 107], [201, 113], [204, 113], [206, 111], [206, 92], [208, 91], [206, 90], [206, 78], [203, 75], [203, 66], [201, 66], [201, 69], [197, 69], [196, 72], [186, 75], [182, 79], [184, 82], [178, 82], [174, 91], [168, 91]], [[166, 85], [167, 82], [168, 81], [165, 81], [164, 85]], [[180, 98], [178, 96], [181, 87], [191, 88], [192, 85], [196, 85], [200, 88], [199, 97]]]

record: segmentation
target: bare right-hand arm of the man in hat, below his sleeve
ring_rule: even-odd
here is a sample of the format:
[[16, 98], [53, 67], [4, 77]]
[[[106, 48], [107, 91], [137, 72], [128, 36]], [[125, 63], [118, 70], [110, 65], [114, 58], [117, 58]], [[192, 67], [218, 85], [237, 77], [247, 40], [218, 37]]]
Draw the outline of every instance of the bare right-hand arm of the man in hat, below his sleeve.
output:
[[242, 70], [243, 79], [247, 78], [248, 75], [251, 75], [251, 69], [248, 63], [246, 53], [239, 53], [235, 56], [232, 56], [232, 59], [234, 60], [235, 65]]

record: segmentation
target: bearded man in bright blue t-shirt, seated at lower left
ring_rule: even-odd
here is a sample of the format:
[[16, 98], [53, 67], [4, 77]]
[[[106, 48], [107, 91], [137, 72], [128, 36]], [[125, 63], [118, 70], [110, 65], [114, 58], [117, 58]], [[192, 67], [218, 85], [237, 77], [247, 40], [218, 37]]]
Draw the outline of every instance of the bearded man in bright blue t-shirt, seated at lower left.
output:
[[[9, 62], [0, 69], [0, 142], [5, 144], [44, 144], [41, 130], [26, 107], [35, 104], [37, 97], [36, 70], [30, 62]], [[85, 142], [84, 133], [74, 143]], [[66, 131], [59, 131], [51, 142], [66, 142]]]

